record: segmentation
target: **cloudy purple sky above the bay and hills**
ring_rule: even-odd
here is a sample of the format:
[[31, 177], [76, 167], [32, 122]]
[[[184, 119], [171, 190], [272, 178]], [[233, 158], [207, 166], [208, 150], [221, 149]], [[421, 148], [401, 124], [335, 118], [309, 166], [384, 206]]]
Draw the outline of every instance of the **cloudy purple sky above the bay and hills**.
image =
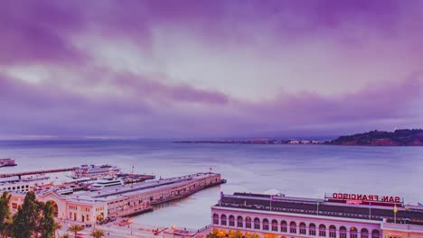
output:
[[423, 127], [423, 1], [0, 2], [0, 137]]

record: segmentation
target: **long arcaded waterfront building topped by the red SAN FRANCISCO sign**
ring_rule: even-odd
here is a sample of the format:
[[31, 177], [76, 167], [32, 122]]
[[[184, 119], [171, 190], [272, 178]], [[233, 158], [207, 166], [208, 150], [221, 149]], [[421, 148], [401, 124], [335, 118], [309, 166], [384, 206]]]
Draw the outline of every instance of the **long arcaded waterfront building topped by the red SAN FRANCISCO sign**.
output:
[[235, 193], [211, 206], [211, 225], [245, 237], [422, 238], [423, 207], [404, 206], [400, 197]]

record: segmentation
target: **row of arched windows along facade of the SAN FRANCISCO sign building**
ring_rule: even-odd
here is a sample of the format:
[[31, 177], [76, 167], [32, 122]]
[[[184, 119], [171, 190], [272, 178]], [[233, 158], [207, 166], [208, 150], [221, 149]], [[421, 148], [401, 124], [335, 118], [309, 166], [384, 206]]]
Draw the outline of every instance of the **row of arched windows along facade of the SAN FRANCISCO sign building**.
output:
[[[329, 229], [326, 229], [326, 225], [324, 224], [319, 224], [319, 226], [317, 227], [313, 223], [307, 226], [305, 223], [300, 223], [299, 225], [297, 225], [296, 222], [290, 222], [288, 225], [287, 221], [281, 221], [279, 224], [275, 219], [269, 222], [269, 220], [266, 218], [260, 221], [258, 217], [252, 220], [249, 216], [245, 217], [245, 219], [243, 219], [242, 216], [238, 216], [235, 219], [234, 215], [230, 215], [229, 217], [227, 217], [226, 215], [221, 215], [221, 217], [219, 217], [219, 215], [213, 214], [213, 224], [219, 224], [219, 222], [221, 225], [229, 225], [233, 227], [236, 226], [240, 228], [245, 227], [254, 230], [261, 229], [264, 231], [281, 233], [300, 233], [308, 235], [318, 235], [322, 237], [325, 237], [326, 233], [328, 233], [330, 238], [347, 238], [347, 228], [345, 226], [341, 226], [339, 227], [339, 230], [337, 230], [336, 226], [334, 226], [333, 224], [328, 227]], [[359, 231], [357, 230], [357, 228], [352, 226], [349, 231], [349, 238], [358, 238]], [[337, 235], [337, 232], [339, 232], [339, 235]], [[369, 233], [369, 231], [365, 228], [363, 228], [360, 233], [362, 238], [380, 238], [381, 236], [381, 233], [378, 230], [373, 230], [371, 233]]]

